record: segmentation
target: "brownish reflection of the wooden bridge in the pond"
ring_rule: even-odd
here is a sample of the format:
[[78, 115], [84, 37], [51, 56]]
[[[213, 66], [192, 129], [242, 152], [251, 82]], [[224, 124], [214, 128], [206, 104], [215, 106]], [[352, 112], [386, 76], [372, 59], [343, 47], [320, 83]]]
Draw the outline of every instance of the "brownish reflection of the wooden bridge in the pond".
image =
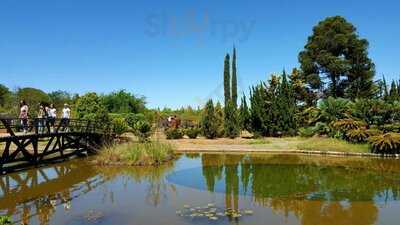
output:
[[103, 181], [81, 161], [12, 173], [0, 178], [0, 212], [13, 215], [13, 221], [30, 224], [37, 216], [49, 224], [58, 205], [71, 208], [71, 200], [96, 188]]

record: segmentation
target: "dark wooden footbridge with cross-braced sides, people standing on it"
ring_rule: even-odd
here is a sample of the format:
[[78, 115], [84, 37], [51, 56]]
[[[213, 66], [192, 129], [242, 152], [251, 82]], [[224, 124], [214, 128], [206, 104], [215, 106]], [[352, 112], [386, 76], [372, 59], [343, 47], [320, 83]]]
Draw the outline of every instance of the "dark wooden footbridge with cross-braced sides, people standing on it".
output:
[[95, 153], [109, 141], [108, 127], [88, 120], [0, 118], [0, 174]]

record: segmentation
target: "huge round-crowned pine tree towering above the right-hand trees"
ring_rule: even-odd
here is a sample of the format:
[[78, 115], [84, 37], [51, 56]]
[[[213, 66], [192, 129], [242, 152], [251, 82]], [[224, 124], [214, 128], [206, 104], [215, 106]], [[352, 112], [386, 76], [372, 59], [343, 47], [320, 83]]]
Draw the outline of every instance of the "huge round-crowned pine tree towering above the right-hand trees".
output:
[[320, 21], [298, 58], [315, 94], [350, 99], [374, 94], [375, 65], [368, 56], [368, 40], [341, 16]]

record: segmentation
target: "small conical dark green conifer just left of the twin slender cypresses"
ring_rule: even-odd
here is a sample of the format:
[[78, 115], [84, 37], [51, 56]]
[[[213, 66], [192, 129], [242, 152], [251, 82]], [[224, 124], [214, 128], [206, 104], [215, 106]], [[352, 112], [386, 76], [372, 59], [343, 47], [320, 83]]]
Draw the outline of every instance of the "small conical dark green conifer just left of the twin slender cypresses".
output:
[[215, 123], [215, 110], [214, 110], [214, 103], [210, 99], [203, 112], [203, 117], [201, 120], [201, 129], [203, 135], [208, 139], [214, 139], [217, 137], [217, 125]]

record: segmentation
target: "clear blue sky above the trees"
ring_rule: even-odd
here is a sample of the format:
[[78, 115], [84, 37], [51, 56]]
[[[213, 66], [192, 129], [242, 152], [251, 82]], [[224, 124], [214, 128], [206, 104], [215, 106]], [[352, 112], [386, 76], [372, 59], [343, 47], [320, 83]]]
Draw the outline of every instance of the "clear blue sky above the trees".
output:
[[377, 76], [400, 77], [400, 3], [355, 0], [1, 0], [0, 83], [107, 93], [150, 107], [222, 99], [225, 53], [238, 51], [239, 88], [298, 66], [312, 27], [341, 15], [370, 42]]

